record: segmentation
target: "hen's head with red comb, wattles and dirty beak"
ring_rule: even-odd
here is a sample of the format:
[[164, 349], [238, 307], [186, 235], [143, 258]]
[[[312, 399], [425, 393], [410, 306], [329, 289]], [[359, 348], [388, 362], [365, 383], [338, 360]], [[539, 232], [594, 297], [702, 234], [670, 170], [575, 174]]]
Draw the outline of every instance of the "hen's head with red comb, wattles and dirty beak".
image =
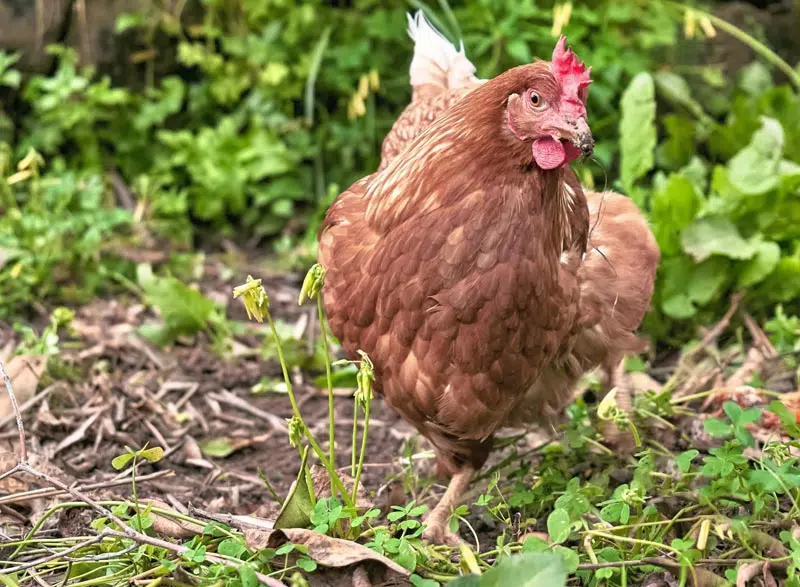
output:
[[[542, 169], [591, 155], [594, 139], [586, 122], [589, 74], [562, 36], [552, 61], [537, 61], [499, 78], [507, 91], [505, 121], [520, 141], [531, 141], [533, 160]], [[499, 81], [499, 78], [498, 79]]]

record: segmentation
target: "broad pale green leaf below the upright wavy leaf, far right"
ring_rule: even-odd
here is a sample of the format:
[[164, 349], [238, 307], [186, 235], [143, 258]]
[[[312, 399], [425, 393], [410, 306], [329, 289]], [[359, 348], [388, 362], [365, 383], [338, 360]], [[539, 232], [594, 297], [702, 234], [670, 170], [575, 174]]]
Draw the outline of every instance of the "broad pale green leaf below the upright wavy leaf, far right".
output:
[[721, 216], [700, 218], [686, 227], [681, 234], [681, 246], [698, 263], [711, 255], [750, 259], [756, 253], [755, 247], [742, 238], [736, 226]]

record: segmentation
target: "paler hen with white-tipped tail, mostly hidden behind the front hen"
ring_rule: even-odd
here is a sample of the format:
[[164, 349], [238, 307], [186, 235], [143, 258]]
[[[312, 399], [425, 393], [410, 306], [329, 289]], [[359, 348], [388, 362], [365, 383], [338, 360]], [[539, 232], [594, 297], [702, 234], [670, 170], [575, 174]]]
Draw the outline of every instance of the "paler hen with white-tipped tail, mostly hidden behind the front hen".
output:
[[[408, 33], [414, 41], [412, 99], [383, 141], [379, 169], [486, 81], [475, 77], [475, 66], [463, 46], [456, 50], [428, 24], [422, 11], [408, 16]], [[577, 182], [571, 169], [565, 173]], [[587, 327], [572, 341], [571, 349], [544, 368], [530, 401], [518, 412], [520, 424], [542, 413], [554, 419], [572, 400], [581, 376], [596, 367], [605, 374], [606, 389], [617, 389], [619, 407], [631, 411], [632, 390], [622, 363], [626, 354], [641, 352], [646, 346], [634, 332], [650, 307], [660, 252], [647, 219], [633, 201], [611, 191], [584, 191], [590, 214], [589, 247], [578, 279]], [[629, 435], [620, 436], [613, 426], [605, 427], [605, 432], [609, 441], [629, 447]]]

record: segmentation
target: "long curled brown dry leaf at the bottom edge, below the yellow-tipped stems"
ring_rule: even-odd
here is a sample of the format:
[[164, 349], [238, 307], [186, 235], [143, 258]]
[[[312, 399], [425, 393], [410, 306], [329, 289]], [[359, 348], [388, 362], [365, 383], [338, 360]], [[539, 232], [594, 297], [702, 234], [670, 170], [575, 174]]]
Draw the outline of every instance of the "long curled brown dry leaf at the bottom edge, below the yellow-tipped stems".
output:
[[308, 548], [308, 556], [324, 567], [347, 567], [364, 561], [375, 561], [395, 573], [407, 577], [409, 572], [396, 562], [370, 550], [357, 542], [331, 538], [304, 528], [284, 530], [245, 530], [244, 540], [249, 548], [262, 550], [278, 548], [286, 542], [301, 544]]

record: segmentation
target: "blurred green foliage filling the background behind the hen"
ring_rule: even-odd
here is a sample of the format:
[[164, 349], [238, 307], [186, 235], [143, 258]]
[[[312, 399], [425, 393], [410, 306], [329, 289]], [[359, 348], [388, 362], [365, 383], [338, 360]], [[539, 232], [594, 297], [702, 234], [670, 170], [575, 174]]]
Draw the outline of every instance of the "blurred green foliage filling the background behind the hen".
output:
[[[463, 39], [481, 77], [547, 58], [559, 28], [592, 66], [597, 148], [579, 172], [596, 189], [631, 195], [651, 219], [663, 251], [648, 318], [655, 338], [694, 334], [689, 320], [719, 315], [736, 288], [769, 315], [776, 302], [797, 313], [800, 101], [764, 65], [726, 79], [691, 63], [698, 42], [684, 39], [674, 5], [577, 2], [565, 13], [533, 0], [452, 9], [444, 0], [203, 0], [192, 16], [166, 6], [154, 0], [118, 19], [133, 49], [174, 56], [158, 62], [162, 76], [145, 61], [138, 84], [114, 83], [58, 46], [52, 74], [23, 79], [0, 53], [3, 173], [13, 176], [31, 149], [46, 162], [4, 192], [0, 262], [16, 268], [0, 278], [5, 312], [63, 298], [53, 275], [81, 274], [73, 290], [85, 294], [108, 281], [110, 263], [132, 279], [133, 264], [101, 245], [142, 227], [184, 245], [234, 237], [299, 250], [294, 260], [307, 264], [321, 214], [377, 167], [408, 103], [405, 13], [425, 7]], [[111, 189], [112, 173], [132, 205]]]

